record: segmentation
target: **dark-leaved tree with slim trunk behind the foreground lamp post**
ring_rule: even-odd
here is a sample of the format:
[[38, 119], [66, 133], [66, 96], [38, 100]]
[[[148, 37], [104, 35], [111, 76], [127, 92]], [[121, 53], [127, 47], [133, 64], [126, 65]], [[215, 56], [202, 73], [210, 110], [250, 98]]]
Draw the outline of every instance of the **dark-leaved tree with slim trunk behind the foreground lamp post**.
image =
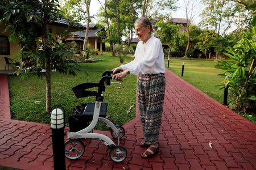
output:
[[[22, 75], [46, 76], [46, 111], [49, 113], [51, 109], [51, 70], [75, 75], [75, 70], [78, 69], [78, 65], [69, 65], [65, 61], [75, 53], [72, 44], [59, 42], [49, 30], [49, 23], [62, 17], [61, 11], [57, 9], [55, 2], [49, 0], [5, 0], [0, 2], [0, 14], [2, 14], [0, 15], [0, 24], [6, 23], [5, 31], [10, 31], [9, 40], [18, 40], [19, 44], [23, 46], [20, 54], [28, 57], [28, 62], [38, 63], [30, 67], [26, 66], [26, 62], [22, 63], [16, 73], [18, 75], [22, 73]], [[31, 49], [31, 46], [38, 46], [38, 48]], [[46, 73], [42, 72], [43, 69], [46, 70]]]

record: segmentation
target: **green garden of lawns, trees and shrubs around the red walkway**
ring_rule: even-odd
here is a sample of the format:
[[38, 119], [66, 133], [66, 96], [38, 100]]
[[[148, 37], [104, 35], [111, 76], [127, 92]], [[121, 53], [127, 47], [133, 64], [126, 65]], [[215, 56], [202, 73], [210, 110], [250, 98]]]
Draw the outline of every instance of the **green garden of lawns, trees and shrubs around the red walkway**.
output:
[[[132, 53], [135, 47], [130, 41], [135, 33], [135, 19], [150, 16], [155, 36], [164, 46], [166, 67], [180, 76], [181, 63], [185, 62], [181, 78], [220, 103], [223, 88], [229, 87], [227, 107], [255, 123], [255, 3], [202, 1], [207, 8], [200, 15], [204, 28], [201, 29], [190, 22], [192, 18], [187, 13], [195, 11], [195, 4], [184, 2], [189, 7], [185, 10], [186, 22], [177, 24], [165, 13], [177, 10], [176, 1], [105, 1], [97, 15], [100, 18], [97, 27], [103, 31], [97, 36], [108, 45], [110, 52], [102, 56], [92, 52], [93, 62], [88, 63], [84, 62], [89, 54], [86, 49], [88, 29], [83, 48], [77, 50], [76, 42], [60, 41], [59, 37], [70, 35], [67, 30], [53, 35], [49, 24], [65, 16], [70, 21], [70, 28], [78, 27], [82, 20], [89, 28], [90, 1], [64, 1], [64, 5], [58, 1], [1, 1], [0, 24], [7, 25], [5, 31], [10, 33], [9, 41], [19, 41], [22, 45], [17, 58], [26, 56], [30, 63], [36, 63], [27, 66], [22, 62], [16, 67], [15, 73], [21, 79], [9, 76], [11, 117], [48, 124], [52, 105], [63, 105], [68, 117], [76, 105], [94, 102], [94, 97], [76, 99], [72, 87], [98, 82], [105, 70], [131, 61], [133, 57], [126, 54]], [[237, 29], [231, 31], [233, 24]], [[181, 33], [180, 29], [184, 31]], [[123, 42], [122, 36], [129, 41]], [[36, 48], [31, 49], [31, 46]], [[105, 102], [109, 103], [109, 119], [114, 124], [123, 125], [135, 117], [135, 82], [136, 76], [127, 76], [125, 82], [106, 87]], [[98, 129], [104, 129], [99, 126]]]

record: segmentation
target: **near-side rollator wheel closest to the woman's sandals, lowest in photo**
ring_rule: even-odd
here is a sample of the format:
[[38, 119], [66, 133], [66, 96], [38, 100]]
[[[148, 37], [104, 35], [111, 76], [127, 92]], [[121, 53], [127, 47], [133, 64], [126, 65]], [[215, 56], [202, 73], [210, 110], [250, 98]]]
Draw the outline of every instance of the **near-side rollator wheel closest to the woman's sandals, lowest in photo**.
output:
[[126, 148], [119, 145], [113, 146], [111, 148], [111, 151], [109, 152], [109, 157], [114, 162], [122, 162], [123, 160], [125, 160], [126, 156], [127, 156]]

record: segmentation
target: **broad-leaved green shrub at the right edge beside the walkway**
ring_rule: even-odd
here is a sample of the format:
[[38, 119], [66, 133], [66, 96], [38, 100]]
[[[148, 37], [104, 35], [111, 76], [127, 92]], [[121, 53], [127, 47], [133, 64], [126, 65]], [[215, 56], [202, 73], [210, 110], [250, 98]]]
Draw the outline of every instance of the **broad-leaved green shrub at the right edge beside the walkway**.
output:
[[[230, 61], [218, 61], [217, 69], [224, 70], [222, 76], [228, 76], [221, 84], [228, 84], [231, 92], [237, 96], [233, 101], [233, 108], [245, 112], [246, 110], [255, 111], [256, 100], [256, 71], [253, 59], [256, 58], [256, 27], [250, 32], [242, 35], [240, 41], [232, 47], [229, 46], [225, 53]], [[251, 71], [251, 72], [250, 72]]]

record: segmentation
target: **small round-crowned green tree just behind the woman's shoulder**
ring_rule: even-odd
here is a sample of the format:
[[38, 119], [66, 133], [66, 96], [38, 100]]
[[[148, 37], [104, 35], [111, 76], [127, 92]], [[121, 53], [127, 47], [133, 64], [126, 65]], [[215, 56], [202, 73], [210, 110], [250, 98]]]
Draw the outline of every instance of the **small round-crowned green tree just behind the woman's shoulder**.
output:
[[166, 43], [169, 46], [168, 51], [168, 67], [170, 63], [170, 53], [172, 50], [172, 46], [175, 44], [175, 42], [179, 41], [179, 25], [172, 24], [171, 21], [164, 23], [163, 20], [160, 20], [158, 23], [156, 23], [156, 26], [158, 27], [156, 34], [160, 35], [160, 40], [163, 43]]

